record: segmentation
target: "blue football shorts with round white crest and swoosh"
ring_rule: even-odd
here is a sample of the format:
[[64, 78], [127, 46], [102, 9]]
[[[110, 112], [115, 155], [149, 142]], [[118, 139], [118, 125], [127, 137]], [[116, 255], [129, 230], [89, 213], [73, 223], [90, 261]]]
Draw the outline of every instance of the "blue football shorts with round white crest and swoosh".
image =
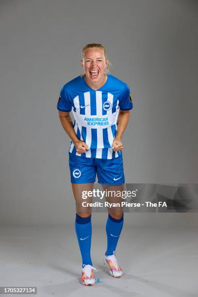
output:
[[122, 154], [114, 159], [86, 158], [69, 153], [71, 183], [99, 183], [118, 185], [125, 182]]

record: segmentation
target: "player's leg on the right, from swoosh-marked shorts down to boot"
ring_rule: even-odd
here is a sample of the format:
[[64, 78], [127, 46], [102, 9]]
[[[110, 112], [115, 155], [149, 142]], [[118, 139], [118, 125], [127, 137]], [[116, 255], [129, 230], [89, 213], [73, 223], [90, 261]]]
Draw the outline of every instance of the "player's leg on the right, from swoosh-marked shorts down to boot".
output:
[[[117, 203], [116, 207], [108, 208], [108, 218], [106, 223], [107, 249], [105, 253], [105, 262], [109, 265], [110, 274], [115, 277], [121, 277], [122, 268], [115, 258], [115, 249], [123, 227], [123, 208], [121, 206], [122, 198], [119, 193], [124, 190], [124, 170], [122, 155], [112, 160], [102, 160], [98, 162], [99, 183], [107, 192], [106, 200], [110, 203]], [[111, 192], [110, 192], [111, 191]], [[118, 192], [119, 191], [119, 192]], [[112, 195], [110, 195], [112, 193]]]

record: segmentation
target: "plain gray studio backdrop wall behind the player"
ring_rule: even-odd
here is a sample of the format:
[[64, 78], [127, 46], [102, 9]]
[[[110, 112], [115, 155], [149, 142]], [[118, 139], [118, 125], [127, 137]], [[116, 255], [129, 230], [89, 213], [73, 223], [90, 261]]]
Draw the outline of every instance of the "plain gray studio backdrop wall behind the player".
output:
[[[126, 182], [198, 181], [198, 1], [0, 2], [0, 224], [73, 224], [68, 148], [56, 109], [102, 43], [132, 89]], [[93, 214], [103, 224], [106, 214]], [[126, 214], [125, 224], [198, 225], [198, 214]]]

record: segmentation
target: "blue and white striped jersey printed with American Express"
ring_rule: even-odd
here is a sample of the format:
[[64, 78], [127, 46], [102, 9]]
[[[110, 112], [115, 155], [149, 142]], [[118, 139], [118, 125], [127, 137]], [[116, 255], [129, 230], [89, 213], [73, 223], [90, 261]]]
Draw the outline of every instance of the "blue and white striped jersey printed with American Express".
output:
[[78, 76], [61, 88], [57, 108], [63, 112], [72, 111], [75, 132], [88, 146], [85, 153], [78, 154], [71, 141], [71, 154], [99, 159], [114, 159], [121, 154], [121, 151], [113, 151], [112, 143], [119, 109], [132, 109], [130, 89], [125, 82], [107, 74], [107, 81], [95, 91], [84, 77]]

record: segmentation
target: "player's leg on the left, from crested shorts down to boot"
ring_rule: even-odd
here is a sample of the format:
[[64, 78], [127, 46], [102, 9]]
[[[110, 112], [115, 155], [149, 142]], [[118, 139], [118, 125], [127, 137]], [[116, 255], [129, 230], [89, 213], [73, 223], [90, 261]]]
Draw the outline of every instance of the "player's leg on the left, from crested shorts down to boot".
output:
[[76, 201], [75, 230], [82, 255], [82, 284], [93, 285], [94, 277], [91, 261], [91, 211], [89, 206], [82, 206], [82, 202], [92, 202], [92, 197], [82, 199], [82, 191], [93, 191], [96, 181], [96, 167], [91, 158], [83, 158], [69, 154], [69, 168], [74, 198]]

